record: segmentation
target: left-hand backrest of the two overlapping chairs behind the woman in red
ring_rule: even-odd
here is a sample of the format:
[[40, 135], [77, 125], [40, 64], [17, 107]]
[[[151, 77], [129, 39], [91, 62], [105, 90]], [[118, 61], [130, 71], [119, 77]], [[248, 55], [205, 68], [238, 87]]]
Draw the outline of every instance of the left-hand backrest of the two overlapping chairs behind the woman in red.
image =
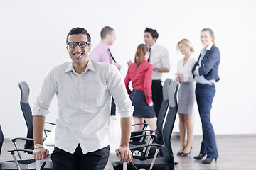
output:
[[169, 106], [169, 98], [168, 98], [168, 89], [169, 86], [171, 84], [171, 79], [166, 79], [164, 81], [164, 85], [163, 85], [163, 101], [161, 103], [161, 107], [159, 110], [159, 115], [157, 117], [156, 120], [156, 136], [157, 136], [157, 140], [161, 139], [161, 131], [162, 131], [162, 125], [164, 123], [164, 118]]

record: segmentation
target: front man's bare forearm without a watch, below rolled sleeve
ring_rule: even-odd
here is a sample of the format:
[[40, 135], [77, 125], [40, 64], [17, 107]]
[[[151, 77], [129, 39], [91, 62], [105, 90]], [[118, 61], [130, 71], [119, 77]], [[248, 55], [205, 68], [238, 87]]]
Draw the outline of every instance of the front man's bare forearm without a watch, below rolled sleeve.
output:
[[132, 116], [129, 118], [121, 118], [121, 143], [120, 146], [129, 147], [129, 139], [132, 130]]

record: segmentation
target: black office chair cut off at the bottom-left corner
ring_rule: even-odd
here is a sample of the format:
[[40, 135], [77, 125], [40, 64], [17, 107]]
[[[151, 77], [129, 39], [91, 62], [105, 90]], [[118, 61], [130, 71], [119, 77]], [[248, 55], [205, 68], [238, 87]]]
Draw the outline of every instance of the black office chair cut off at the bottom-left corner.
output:
[[[3, 146], [4, 142], [4, 134], [3, 131], [1, 130], [1, 125], [0, 125], [0, 155], [1, 155], [1, 148]], [[14, 152], [17, 151], [26, 151], [26, 152], [31, 152], [29, 149], [12, 149], [9, 150], [8, 152], [11, 153], [13, 156], [14, 160], [12, 161], [5, 161], [0, 163], [0, 170], [16, 170], [16, 169], [21, 169], [21, 170], [35, 170], [36, 169], [36, 163], [35, 159], [26, 159], [26, 160], [17, 160]], [[47, 162], [43, 164], [43, 167], [41, 169], [46, 169], [50, 170], [53, 169], [53, 164], [52, 162]]]

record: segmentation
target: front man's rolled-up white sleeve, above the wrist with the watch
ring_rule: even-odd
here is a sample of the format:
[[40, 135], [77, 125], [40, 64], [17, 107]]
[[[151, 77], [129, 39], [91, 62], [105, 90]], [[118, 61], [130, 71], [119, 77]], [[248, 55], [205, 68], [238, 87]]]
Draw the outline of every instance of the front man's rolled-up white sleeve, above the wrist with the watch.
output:
[[57, 85], [54, 79], [54, 71], [50, 71], [46, 74], [46, 78], [41, 86], [41, 91], [36, 98], [36, 103], [33, 106], [32, 115], [46, 116], [49, 113], [50, 103], [53, 100], [53, 96], [57, 92]]

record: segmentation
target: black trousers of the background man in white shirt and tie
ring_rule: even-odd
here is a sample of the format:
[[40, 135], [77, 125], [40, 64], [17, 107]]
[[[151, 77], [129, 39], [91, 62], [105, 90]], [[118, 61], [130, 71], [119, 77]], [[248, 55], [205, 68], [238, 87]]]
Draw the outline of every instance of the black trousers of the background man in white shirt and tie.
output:
[[161, 103], [163, 101], [163, 86], [161, 85], [161, 80], [152, 80], [152, 101], [154, 103], [154, 111], [156, 117], [158, 117]]

